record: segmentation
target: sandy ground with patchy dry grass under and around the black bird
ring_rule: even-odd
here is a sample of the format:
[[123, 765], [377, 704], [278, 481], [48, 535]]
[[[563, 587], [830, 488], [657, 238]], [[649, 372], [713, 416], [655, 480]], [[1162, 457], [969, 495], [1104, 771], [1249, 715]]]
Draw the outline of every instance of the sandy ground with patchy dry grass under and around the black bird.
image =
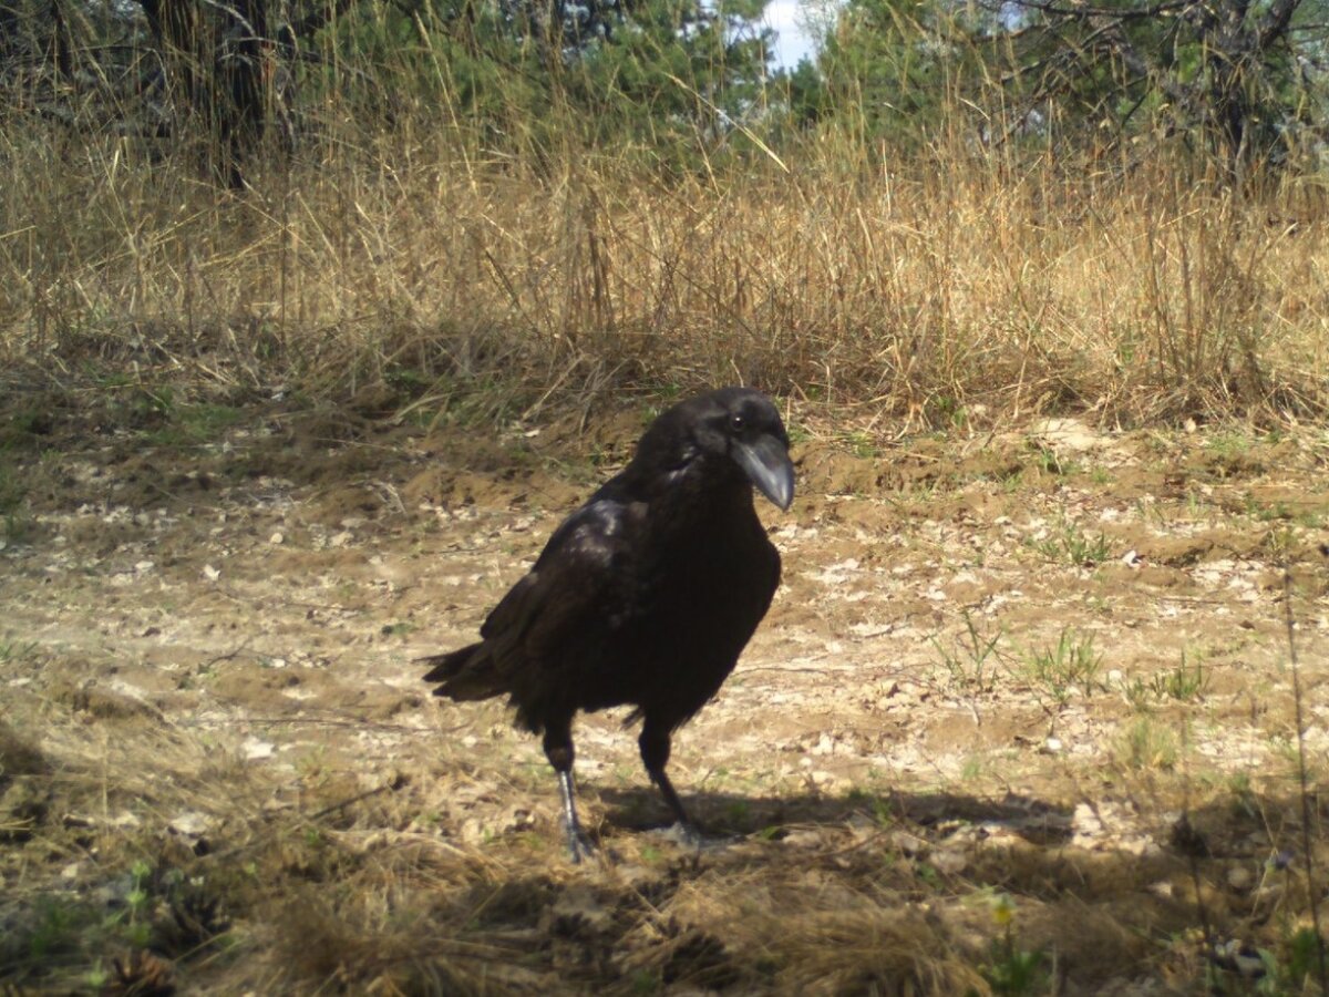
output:
[[662, 833], [634, 732], [587, 717], [606, 860], [577, 868], [534, 739], [412, 659], [472, 637], [643, 412], [141, 421], [28, 405], [3, 441], [19, 992], [1317, 992], [1322, 431], [795, 413], [784, 585], [675, 739], [722, 840]]

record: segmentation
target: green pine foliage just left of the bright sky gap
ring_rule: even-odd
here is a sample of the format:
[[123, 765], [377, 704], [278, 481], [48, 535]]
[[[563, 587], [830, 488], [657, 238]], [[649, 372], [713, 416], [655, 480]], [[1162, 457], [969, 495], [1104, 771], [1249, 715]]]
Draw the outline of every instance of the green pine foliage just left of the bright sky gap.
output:
[[575, 144], [619, 157], [639, 149], [678, 165], [688, 150], [723, 149], [738, 125], [768, 110], [769, 32], [754, 27], [764, 0], [433, 0], [354, 8], [331, 32], [342, 57], [371, 65], [330, 93], [389, 117], [432, 106], [489, 149]]

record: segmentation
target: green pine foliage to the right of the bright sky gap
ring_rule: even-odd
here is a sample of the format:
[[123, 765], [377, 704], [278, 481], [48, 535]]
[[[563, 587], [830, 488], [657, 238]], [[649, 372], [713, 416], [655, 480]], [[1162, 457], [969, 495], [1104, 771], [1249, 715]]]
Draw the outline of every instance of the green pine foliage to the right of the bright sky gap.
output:
[[791, 76], [792, 108], [905, 152], [957, 126], [982, 145], [1088, 156], [1175, 138], [1237, 178], [1322, 156], [1325, 11], [848, 0], [817, 61], [823, 90]]

